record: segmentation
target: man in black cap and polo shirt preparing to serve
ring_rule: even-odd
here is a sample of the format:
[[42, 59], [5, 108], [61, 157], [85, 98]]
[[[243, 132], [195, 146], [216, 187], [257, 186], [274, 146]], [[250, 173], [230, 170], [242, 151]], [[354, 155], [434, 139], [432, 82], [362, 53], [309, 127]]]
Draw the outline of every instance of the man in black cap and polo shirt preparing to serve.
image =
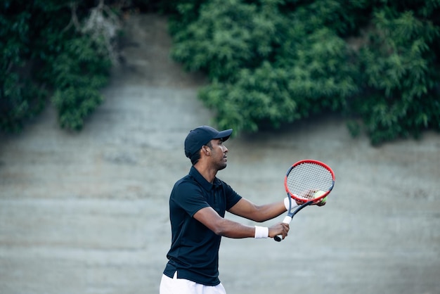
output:
[[[169, 198], [172, 245], [169, 262], [160, 283], [160, 294], [225, 294], [219, 281], [221, 236], [228, 238], [285, 238], [289, 225], [278, 222], [270, 227], [246, 226], [224, 219], [225, 212], [264, 222], [286, 212], [288, 199], [255, 205], [235, 193], [216, 177], [227, 163], [224, 146], [232, 129], [217, 131], [201, 126], [185, 139], [185, 155], [193, 166], [186, 177], [174, 184]], [[286, 208], [287, 207], [287, 208]]]

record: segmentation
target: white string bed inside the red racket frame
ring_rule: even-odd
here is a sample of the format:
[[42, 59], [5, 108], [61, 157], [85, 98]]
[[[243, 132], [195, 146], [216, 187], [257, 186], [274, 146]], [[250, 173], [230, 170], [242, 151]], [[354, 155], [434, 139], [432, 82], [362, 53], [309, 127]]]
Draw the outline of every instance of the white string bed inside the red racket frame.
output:
[[316, 191], [329, 191], [332, 185], [332, 173], [322, 165], [311, 162], [296, 165], [286, 177], [290, 193], [302, 200], [313, 199]]

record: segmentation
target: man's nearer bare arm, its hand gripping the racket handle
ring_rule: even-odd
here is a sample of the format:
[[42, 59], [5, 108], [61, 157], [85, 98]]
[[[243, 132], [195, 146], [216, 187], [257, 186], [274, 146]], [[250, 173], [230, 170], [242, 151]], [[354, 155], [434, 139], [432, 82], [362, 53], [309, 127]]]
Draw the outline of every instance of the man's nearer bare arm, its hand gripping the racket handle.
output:
[[[238, 203], [240, 203], [240, 201], [238, 201]], [[237, 204], [235, 204], [233, 207], [235, 207]], [[229, 219], [224, 219], [214, 209], [212, 209], [212, 207], [205, 207], [198, 212], [195, 212], [194, 218], [219, 236], [225, 236], [228, 238], [254, 238], [255, 236], [254, 226], [246, 226], [238, 222], [233, 222]], [[269, 227], [268, 231], [268, 236], [271, 238], [278, 235], [282, 235], [283, 238], [285, 238], [285, 236], [287, 236], [287, 231], [289, 231], [289, 225], [279, 222]]]

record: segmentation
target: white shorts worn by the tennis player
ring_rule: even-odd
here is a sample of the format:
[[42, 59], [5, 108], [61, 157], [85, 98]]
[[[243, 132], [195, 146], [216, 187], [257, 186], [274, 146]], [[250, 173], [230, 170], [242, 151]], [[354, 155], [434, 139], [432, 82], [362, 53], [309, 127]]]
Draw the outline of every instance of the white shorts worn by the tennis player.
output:
[[217, 286], [205, 286], [186, 279], [177, 279], [177, 271], [174, 278], [162, 275], [160, 281], [160, 294], [226, 294], [221, 283]]

